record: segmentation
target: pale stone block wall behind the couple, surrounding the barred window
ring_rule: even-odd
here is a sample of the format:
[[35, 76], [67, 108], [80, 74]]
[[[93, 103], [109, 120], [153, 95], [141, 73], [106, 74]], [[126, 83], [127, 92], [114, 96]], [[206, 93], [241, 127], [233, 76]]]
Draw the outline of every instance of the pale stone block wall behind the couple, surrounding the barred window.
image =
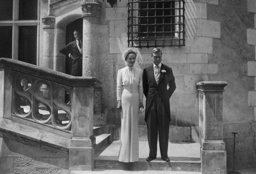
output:
[[[102, 23], [108, 23], [108, 41], [109, 55], [114, 61], [113, 78], [106, 80], [108, 83], [114, 82], [111, 97], [107, 97], [103, 93], [103, 98], [112, 107], [116, 106], [116, 75], [117, 71], [126, 66], [123, 59], [123, 52], [128, 47], [127, 23], [128, 23], [128, 0], [117, 2], [115, 8], [103, 2], [105, 6], [104, 19]], [[217, 0], [186, 0], [185, 1], [185, 44], [183, 47], [160, 47], [163, 52], [163, 64], [173, 69], [176, 77], [176, 91], [170, 100], [171, 106], [171, 125], [190, 127], [198, 125], [198, 94], [195, 83], [199, 81], [207, 81], [209, 74], [218, 73], [218, 65], [216, 63], [208, 63], [209, 57], [213, 52], [213, 38], [220, 37], [219, 21], [207, 19], [207, 4], [217, 5]], [[138, 56], [136, 67], [144, 69], [152, 65], [151, 51], [152, 48], [137, 49]], [[106, 62], [107, 64], [109, 62]], [[110, 71], [112, 72], [112, 68]], [[105, 74], [106, 75], [106, 74]], [[145, 106], [145, 96], [144, 96]], [[120, 117], [120, 115], [108, 115], [110, 117]], [[108, 119], [119, 120], [119, 119]], [[115, 123], [116, 124], [116, 123]], [[120, 123], [119, 123], [120, 124]], [[139, 115], [139, 124], [145, 125], [144, 114]]]

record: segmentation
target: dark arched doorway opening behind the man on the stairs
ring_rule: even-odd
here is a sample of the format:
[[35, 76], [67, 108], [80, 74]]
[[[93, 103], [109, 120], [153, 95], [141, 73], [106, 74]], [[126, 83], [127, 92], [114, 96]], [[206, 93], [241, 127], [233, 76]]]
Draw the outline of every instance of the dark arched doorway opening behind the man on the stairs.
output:
[[[74, 21], [72, 21], [71, 23], [69, 23], [66, 27], [66, 45], [69, 42], [72, 42], [75, 40], [74, 38], [74, 30], [78, 30], [82, 33], [82, 18], [76, 19]], [[70, 59], [70, 57], [66, 56], [66, 70], [65, 73], [66, 74], [71, 74], [71, 66], [72, 66], [72, 60]]]

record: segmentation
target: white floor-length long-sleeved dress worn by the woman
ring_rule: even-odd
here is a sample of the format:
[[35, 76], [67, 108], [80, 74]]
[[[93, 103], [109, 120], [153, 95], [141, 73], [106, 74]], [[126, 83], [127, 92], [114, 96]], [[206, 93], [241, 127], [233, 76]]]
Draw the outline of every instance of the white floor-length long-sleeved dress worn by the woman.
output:
[[119, 161], [139, 161], [139, 102], [143, 100], [142, 70], [125, 67], [117, 74], [117, 100], [121, 100], [121, 146]]

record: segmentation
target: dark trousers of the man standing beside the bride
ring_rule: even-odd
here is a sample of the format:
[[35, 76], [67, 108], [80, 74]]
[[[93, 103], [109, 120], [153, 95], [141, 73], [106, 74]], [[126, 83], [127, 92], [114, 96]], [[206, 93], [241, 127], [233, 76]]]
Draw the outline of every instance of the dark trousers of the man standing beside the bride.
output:
[[169, 141], [169, 119], [166, 116], [163, 102], [159, 98], [158, 93], [155, 94], [149, 111], [147, 113], [148, 121], [148, 144], [150, 147], [150, 157], [156, 157], [157, 152], [157, 136], [159, 134], [159, 146], [161, 151], [161, 157], [168, 157], [168, 141]]

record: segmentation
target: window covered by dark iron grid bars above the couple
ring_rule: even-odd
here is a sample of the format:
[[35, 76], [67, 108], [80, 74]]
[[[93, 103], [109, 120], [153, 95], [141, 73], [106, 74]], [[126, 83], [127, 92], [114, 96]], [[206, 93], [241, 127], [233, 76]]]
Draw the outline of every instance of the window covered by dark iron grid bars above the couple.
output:
[[184, 46], [184, 0], [128, 0], [128, 47]]

